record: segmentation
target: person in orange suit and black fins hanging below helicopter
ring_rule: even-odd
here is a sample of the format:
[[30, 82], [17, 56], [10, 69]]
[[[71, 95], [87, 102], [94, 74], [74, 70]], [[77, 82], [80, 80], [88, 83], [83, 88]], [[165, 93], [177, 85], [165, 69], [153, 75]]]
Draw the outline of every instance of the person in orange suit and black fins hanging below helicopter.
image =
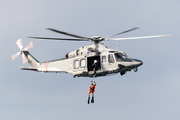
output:
[[[94, 84], [93, 84], [93, 83], [94, 83]], [[94, 103], [95, 87], [96, 87], [96, 82], [95, 82], [95, 81], [91, 81], [91, 86], [90, 86], [89, 92], [88, 92], [88, 104], [89, 104], [89, 102], [90, 102], [90, 93], [92, 93], [91, 103]]]

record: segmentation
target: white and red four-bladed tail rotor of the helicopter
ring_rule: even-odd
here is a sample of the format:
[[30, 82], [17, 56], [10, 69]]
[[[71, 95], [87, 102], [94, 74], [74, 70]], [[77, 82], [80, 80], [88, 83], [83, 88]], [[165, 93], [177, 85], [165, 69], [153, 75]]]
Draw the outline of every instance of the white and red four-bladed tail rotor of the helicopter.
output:
[[23, 61], [23, 64], [25, 64], [27, 61], [28, 61], [28, 58], [25, 56], [24, 54], [24, 51], [28, 51], [29, 49], [31, 49], [33, 47], [33, 43], [30, 42], [27, 47], [25, 47], [23, 49], [23, 44], [22, 44], [22, 40], [19, 39], [17, 40], [16, 44], [18, 45], [19, 49], [20, 49], [20, 52], [14, 54], [11, 56], [11, 59], [14, 60], [17, 56], [19, 56], [20, 54], [22, 54], [22, 61]]

